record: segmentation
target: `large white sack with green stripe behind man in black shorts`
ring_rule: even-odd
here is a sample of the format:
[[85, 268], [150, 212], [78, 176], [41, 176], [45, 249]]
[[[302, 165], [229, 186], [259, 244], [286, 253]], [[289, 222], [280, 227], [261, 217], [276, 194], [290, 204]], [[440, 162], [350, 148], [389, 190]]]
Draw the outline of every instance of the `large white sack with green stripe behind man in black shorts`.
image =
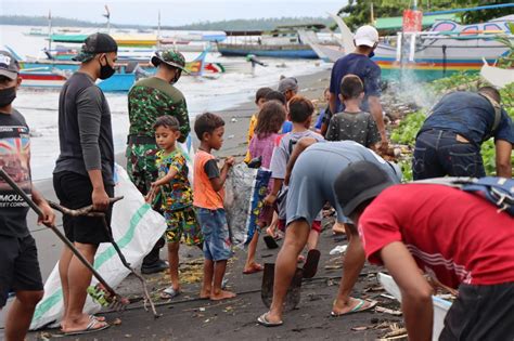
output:
[[[116, 174], [115, 194], [125, 198], [114, 205], [111, 223], [113, 237], [131, 266], [139, 268], [144, 255], [163, 236], [166, 222], [159, 213], [144, 202], [143, 196], [130, 182], [127, 172], [118, 165], [116, 165]], [[100, 245], [94, 258], [94, 268], [113, 288], [116, 288], [129, 274], [110, 242]], [[93, 277], [92, 285], [97, 283]], [[93, 314], [100, 310], [100, 304], [93, 302], [88, 296], [83, 311]], [[44, 297], [36, 307], [30, 329], [38, 329], [49, 324], [57, 326], [62, 314], [63, 293], [57, 263], [44, 284]]]

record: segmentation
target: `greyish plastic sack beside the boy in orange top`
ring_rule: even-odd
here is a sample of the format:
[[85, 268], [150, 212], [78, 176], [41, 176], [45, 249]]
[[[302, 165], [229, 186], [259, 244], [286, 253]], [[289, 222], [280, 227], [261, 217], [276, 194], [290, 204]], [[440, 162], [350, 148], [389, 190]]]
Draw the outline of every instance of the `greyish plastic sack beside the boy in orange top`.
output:
[[243, 248], [254, 237], [270, 178], [271, 171], [248, 168], [246, 163], [230, 169], [224, 183], [224, 209], [234, 247]]

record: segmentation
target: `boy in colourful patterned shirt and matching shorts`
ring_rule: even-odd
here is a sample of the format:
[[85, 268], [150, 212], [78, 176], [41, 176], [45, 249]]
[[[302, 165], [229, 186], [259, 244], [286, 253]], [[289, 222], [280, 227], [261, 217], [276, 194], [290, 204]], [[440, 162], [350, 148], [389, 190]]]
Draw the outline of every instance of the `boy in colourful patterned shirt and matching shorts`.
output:
[[163, 299], [180, 294], [179, 247], [180, 240], [189, 246], [202, 248], [203, 236], [193, 209], [193, 191], [188, 180], [188, 165], [177, 147], [180, 137], [179, 120], [172, 116], [160, 116], [154, 123], [155, 141], [160, 148], [155, 154], [158, 179], [151, 185], [146, 200], [152, 202], [160, 193], [160, 207], [166, 219], [165, 239], [168, 244], [169, 276], [171, 286], [160, 293]]

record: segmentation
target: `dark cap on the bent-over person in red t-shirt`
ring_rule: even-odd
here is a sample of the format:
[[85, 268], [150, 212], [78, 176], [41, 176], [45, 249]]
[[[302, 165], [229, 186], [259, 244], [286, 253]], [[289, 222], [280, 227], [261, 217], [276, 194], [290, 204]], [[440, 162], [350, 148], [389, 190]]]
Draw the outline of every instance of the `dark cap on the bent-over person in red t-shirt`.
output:
[[393, 180], [377, 165], [357, 161], [348, 165], [334, 183], [337, 200], [343, 213], [350, 217], [365, 200], [373, 199], [385, 188], [395, 185]]

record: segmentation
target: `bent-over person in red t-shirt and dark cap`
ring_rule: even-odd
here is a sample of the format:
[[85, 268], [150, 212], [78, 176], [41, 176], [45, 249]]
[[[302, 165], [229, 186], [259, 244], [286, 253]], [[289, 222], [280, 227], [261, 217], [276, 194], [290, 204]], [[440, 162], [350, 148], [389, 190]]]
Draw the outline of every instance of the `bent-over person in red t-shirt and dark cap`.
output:
[[514, 339], [514, 219], [474, 194], [434, 184], [394, 185], [374, 163], [334, 183], [358, 224], [367, 258], [401, 290], [410, 340], [431, 340], [435, 283], [459, 288], [439, 340]]

